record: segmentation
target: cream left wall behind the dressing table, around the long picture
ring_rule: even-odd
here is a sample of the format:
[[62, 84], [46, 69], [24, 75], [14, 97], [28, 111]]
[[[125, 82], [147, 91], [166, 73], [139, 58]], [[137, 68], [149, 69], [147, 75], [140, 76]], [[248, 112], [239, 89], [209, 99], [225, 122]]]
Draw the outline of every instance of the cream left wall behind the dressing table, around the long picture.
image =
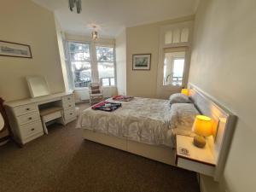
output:
[[0, 56], [0, 95], [6, 101], [29, 97], [25, 77], [44, 75], [49, 89], [64, 90], [61, 62], [52, 12], [30, 0], [2, 1], [0, 39], [29, 44], [32, 59]]

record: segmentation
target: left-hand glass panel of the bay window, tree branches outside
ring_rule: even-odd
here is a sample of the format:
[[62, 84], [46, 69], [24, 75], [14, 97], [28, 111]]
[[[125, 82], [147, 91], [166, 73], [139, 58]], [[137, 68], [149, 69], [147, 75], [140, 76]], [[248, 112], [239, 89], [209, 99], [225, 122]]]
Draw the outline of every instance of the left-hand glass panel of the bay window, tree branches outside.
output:
[[91, 82], [90, 44], [68, 42], [74, 87], [88, 87]]

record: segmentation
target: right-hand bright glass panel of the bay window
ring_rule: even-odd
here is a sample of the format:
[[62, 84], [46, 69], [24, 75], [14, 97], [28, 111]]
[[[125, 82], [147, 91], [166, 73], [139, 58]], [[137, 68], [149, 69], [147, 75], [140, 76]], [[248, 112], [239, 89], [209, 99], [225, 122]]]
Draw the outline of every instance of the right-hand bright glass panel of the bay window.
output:
[[96, 46], [96, 57], [102, 86], [115, 85], [113, 47]]

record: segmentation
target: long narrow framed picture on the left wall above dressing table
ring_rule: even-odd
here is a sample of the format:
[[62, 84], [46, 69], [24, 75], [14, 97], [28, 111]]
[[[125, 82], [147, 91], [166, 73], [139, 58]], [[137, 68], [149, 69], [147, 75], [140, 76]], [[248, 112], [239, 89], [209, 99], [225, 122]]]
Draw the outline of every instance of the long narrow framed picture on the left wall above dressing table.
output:
[[0, 56], [32, 58], [32, 53], [28, 44], [17, 44], [0, 40]]

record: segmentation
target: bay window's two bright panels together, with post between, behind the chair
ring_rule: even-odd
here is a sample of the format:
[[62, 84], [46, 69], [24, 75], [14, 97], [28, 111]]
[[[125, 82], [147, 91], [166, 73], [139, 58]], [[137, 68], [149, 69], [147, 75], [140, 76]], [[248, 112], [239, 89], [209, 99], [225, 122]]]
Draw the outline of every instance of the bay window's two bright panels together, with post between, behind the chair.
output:
[[99, 82], [102, 86], [115, 85], [112, 45], [68, 41], [67, 47], [74, 89], [88, 87], [91, 82]]

